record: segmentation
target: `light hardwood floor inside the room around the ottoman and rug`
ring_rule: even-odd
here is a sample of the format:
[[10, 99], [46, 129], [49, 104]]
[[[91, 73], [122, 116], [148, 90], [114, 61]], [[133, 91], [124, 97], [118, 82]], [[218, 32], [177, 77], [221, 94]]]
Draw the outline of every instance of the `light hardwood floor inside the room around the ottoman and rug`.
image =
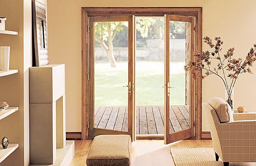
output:
[[[92, 140], [75, 141], [75, 156], [70, 166], [86, 166]], [[212, 147], [212, 140], [182, 140], [164, 145], [163, 140], [137, 140], [132, 143], [131, 166], [175, 166], [170, 147]], [[213, 154], [214, 155], [214, 154]]]

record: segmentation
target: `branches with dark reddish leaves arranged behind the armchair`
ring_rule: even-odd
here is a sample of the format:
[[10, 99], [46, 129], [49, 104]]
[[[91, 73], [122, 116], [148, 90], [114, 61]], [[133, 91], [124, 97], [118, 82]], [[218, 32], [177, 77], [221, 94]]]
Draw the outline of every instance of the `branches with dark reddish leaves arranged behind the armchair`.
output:
[[[225, 85], [227, 92], [227, 103], [233, 109], [233, 100], [231, 94], [238, 76], [241, 73], [251, 73], [250, 67], [256, 61], [256, 44], [250, 49], [245, 60], [242, 58], [234, 59], [234, 48], [229, 48], [224, 55], [220, 55], [223, 41], [220, 37], [214, 38], [214, 43], [208, 36], [203, 41], [209, 45], [212, 51], [195, 52], [196, 62], [188, 62], [184, 67], [186, 71], [191, 71], [194, 76], [202, 76], [202, 79], [210, 75], [218, 76]], [[212, 60], [216, 60], [216, 66], [212, 66]], [[203, 73], [203, 74], [202, 74]], [[227, 77], [230, 79], [227, 81]]]

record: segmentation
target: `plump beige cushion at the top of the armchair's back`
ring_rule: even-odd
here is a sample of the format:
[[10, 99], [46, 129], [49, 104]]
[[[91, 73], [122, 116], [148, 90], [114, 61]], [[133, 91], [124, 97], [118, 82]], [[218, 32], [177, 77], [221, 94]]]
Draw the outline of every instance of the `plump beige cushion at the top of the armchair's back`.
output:
[[221, 123], [234, 121], [232, 109], [227, 101], [220, 97], [213, 97], [208, 104], [216, 111]]

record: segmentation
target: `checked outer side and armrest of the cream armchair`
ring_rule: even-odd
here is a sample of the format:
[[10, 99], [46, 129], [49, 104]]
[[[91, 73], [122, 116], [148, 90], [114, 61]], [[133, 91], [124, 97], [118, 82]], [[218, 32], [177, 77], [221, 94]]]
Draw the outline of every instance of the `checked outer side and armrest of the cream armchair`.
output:
[[220, 123], [216, 128], [224, 162], [255, 162], [256, 120]]

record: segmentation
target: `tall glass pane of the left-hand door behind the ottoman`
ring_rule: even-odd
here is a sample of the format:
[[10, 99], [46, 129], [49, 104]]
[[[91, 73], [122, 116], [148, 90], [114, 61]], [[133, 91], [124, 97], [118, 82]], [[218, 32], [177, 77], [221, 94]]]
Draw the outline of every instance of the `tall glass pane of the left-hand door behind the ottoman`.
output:
[[94, 22], [94, 128], [128, 131], [128, 21]]

